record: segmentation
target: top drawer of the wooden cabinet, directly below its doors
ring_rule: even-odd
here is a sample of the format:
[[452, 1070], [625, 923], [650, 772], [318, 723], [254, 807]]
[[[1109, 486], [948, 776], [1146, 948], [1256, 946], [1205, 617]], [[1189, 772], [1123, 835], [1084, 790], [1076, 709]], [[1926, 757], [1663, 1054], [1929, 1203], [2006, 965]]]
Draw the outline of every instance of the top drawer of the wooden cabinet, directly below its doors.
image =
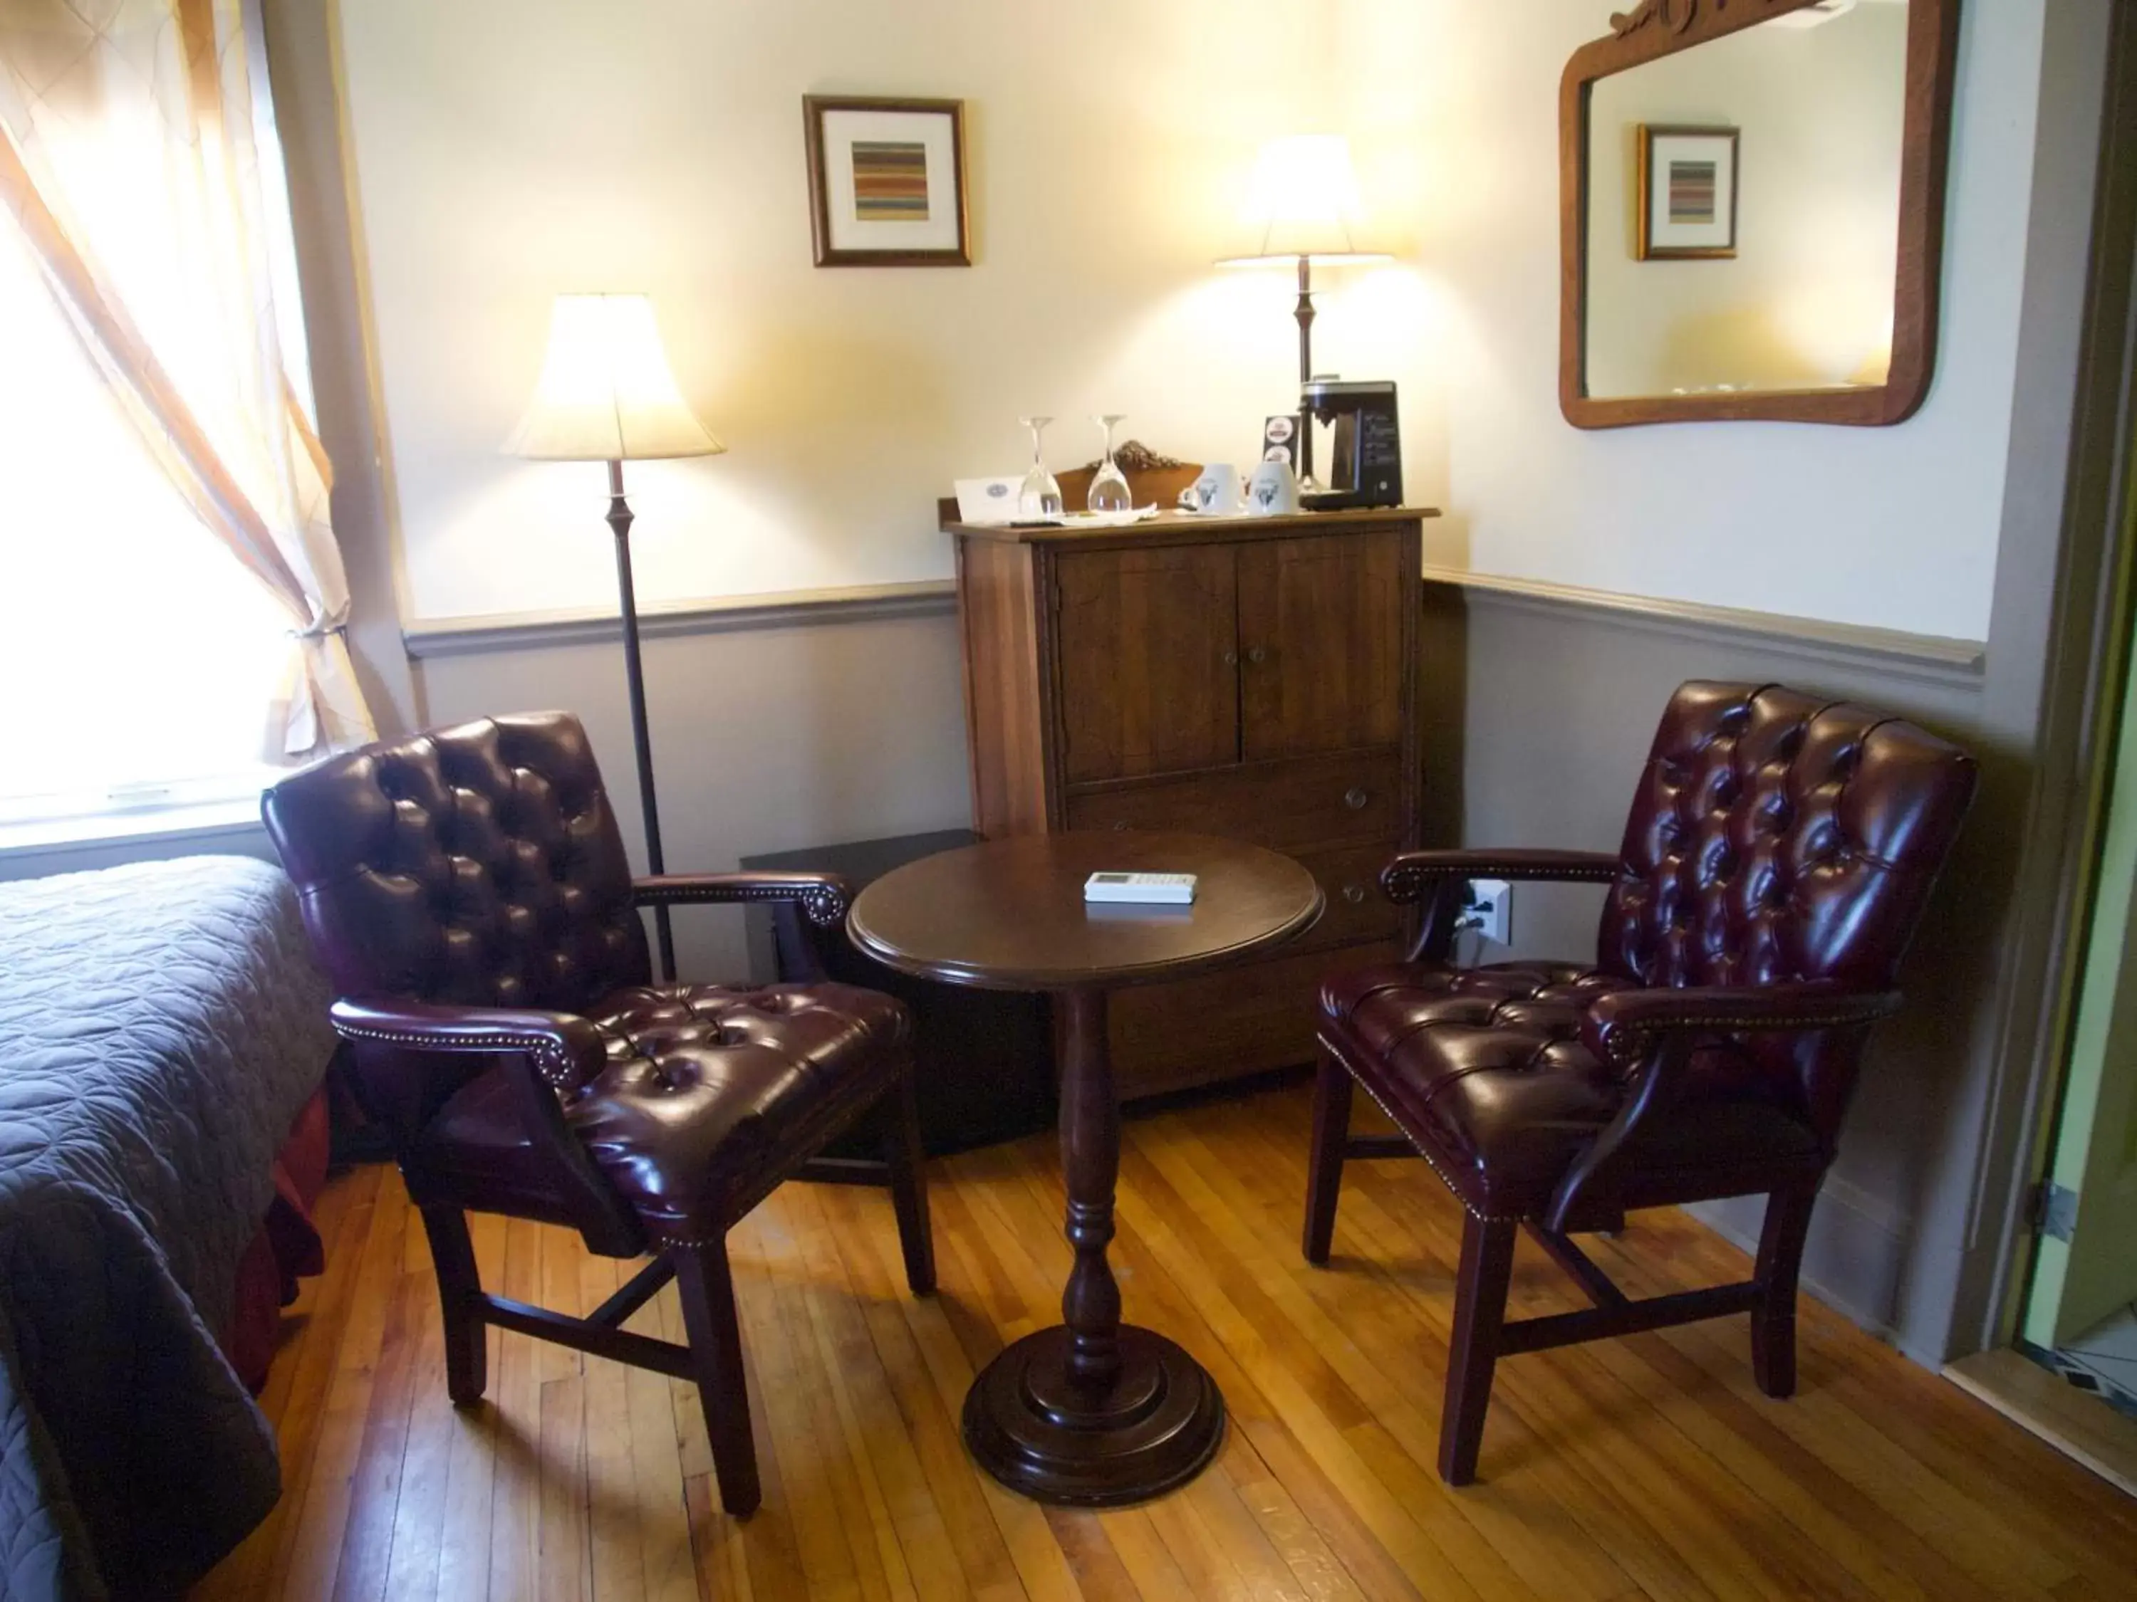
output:
[[1274, 850], [1340, 839], [1400, 839], [1402, 758], [1340, 752], [1244, 763], [1154, 784], [1073, 788], [1071, 829], [1175, 829]]

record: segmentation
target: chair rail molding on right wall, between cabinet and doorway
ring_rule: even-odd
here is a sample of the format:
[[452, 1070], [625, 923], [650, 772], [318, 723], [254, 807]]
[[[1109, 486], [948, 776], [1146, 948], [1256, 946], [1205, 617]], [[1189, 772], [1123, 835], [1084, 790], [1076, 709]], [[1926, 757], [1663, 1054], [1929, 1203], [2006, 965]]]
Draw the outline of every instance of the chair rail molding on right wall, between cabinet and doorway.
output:
[[1987, 645], [1975, 639], [1913, 634], [1872, 624], [1838, 624], [1823, 617], [1635, 596], [1618, 590], [1586, 590], [1571, 583], [1511, 579], [1434, 564], [1425, 566], [1425, 583], [1462, 590], [1472, 604], [1534, 613], [1584, 611], [1624, 628], [1729, 645], [1757, 643], [1810, 662], [1868, 669], [1887, 677], [1925, 679], [1968, 690], [1979, 690], [1987, 671]]

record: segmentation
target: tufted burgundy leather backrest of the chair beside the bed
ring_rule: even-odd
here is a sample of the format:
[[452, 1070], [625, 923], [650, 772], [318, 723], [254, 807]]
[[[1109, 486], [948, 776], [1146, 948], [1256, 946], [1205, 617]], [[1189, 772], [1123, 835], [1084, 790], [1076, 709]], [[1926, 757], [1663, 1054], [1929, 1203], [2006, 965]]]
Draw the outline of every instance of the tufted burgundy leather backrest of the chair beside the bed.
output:
[[274, 786], [263, 814], [342, 995], [577, 1012], [650, 978], [571, 713], [365, 745]]

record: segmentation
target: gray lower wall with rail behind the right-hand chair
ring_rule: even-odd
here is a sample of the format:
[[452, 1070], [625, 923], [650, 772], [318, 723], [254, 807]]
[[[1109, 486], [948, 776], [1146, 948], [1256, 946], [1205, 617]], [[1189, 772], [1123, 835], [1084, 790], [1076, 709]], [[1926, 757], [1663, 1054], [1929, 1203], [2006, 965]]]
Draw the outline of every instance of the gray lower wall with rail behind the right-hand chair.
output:
[[[1549, 585], [1466, 579], [1428, 585], [1430, 626], [1455, 630], [1462, 681], [1428, 694], [1438, 743], [1460, 718], [1460, 839], [1472, 846], [1616, 850], [1639, 763], [1669, 692], [1684, 679], [1780, 681], [1915, 718], [1962, 743], [1979, 720], [1981, 645], [1928, 637], [1797, 628], [1793, 619], [1656, 604]], [[2022, 797], [2019, 797], [2022, 801]], [[1885, 1025], [1863, 1068], [1840, 1162], [1827, 1181], [1806, 1256], [1806, 1282], [1868, 1329], [1891, 1333], [1902, 1314], [1908, 1254], [1925, 1203], [1921, 1177], [1945, 1138], [1968, 1036], [1985, 1027], [1994, 927], [2009, 839], [2005, 797], [1983, 797], [1960, 857], [1930, 908], [1902, 972], [1908, 1010]], [[1601, 895], [1592, 886], [1515, 886], [1513, 951], [1573, 957], [1594, 951]], [[1699, 1211], [1754, 1243], [1763, 1203]]]

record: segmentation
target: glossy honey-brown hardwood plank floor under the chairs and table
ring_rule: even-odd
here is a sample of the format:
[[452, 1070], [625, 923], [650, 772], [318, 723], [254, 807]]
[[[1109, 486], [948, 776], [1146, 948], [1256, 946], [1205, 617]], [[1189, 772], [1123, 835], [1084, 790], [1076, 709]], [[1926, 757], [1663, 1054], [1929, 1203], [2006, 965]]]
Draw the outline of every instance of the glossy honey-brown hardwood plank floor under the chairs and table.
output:
[[[904, 1290], [889, 1198], [786, 1185], [731, 1237], [765, 1504], [718, 1512], [690, 1386], [492, 1331], [444, 1395], [419, 1220], [387, 1168], [321, 1207], [327, 1273], [263, 1397], [276, 1512], [199, 1598], [2030, 1598], [2137, 1596], [2137, 1502], [1806, 1299], [1801, 1391], [1752, 1386], [1744, 1320], [1500, 1365], [1481, 1485], [1432, 1472], [1460, 1211], [1359, 1162], [1329, 1269], [1299, 1260], [1301, 1089], [1126, 1126], [1128, 1316], [1231, 1403], [1188, 1489], [1039, 1508], [964, 1455], [977, 1365], [1056, 1320], [1051, 1141], [934, 1166], [942, 1290]], [[586, 1309], [628, 1265], [477, 1220], [483, 1279]], [[1744, 1277], [1678, 1213], [1594, 1256], [1635, 1292]], [[1522, 1243], [1513, 1309], [1577, 1305]], [[673, 1290], [635, 1329], [680, 1339]]]

